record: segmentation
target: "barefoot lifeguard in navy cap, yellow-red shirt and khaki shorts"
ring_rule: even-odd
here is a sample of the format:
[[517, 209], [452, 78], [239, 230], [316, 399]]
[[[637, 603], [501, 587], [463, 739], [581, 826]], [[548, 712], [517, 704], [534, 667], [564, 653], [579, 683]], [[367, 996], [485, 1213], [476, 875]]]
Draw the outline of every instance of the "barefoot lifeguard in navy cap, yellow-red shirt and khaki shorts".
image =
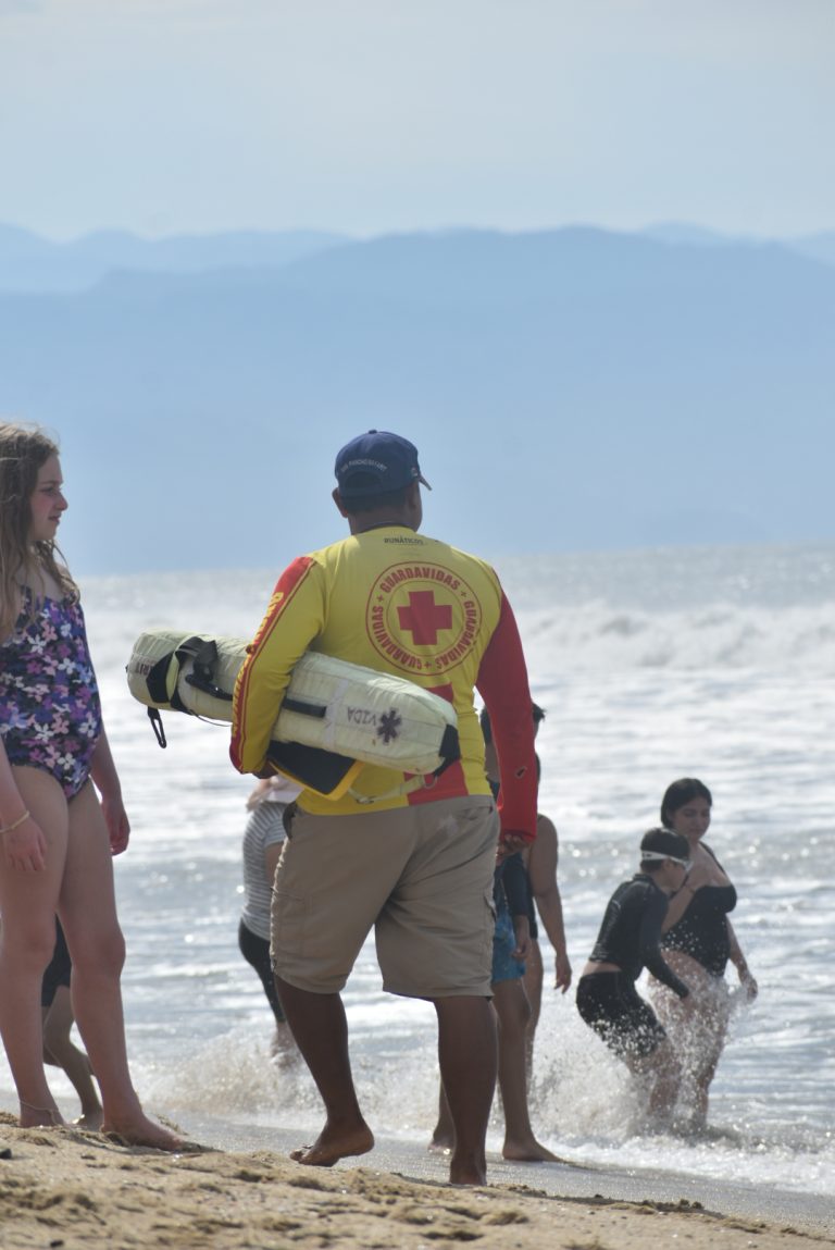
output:
[[[280, 576], [238, 678], [232, 762], [241, 772], [270, 771], [270, 732], [292, 666], [310, 646], [406, 675], [448, 699], [461, 758], [429, 778], [366, 765], [340, 798], [308, 789], [296, 801], [275, 878], [271, 950], [279, 996], [326, 1120], [294, 1159], [330, 1166], [374, 1145], [341, 1000], [374, 929], [385, 990], [435, 1008], [455, 1125], [450, 1181], [481, 1185], [496, 1078], [490, 892], [499, 828], [512, 850], [536, 829], [525, 660], [494, 570], [419, 534], [426, 482], [411, 442], [376, 430], [360, 435], [339, 452], [336, 481], [332, 498], [350, 538], [301, 556]], [[475, 688], [501, 760], [498, 811]]]

